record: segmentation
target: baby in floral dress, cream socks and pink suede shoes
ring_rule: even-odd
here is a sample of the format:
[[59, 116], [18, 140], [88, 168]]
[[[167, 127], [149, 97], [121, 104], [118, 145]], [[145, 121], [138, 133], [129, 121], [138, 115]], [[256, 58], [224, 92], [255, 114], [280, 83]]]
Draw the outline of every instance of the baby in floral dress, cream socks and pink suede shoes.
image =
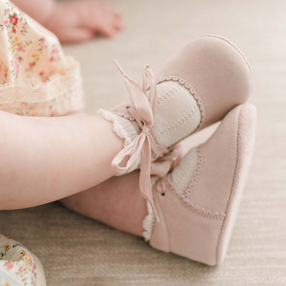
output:
[[[45, 2], [41, 16], [37, 4], [23, 9], [62, 41], [122, 29], [120, 16], [103, 4]], [[255, 107], [245, 103], [252, 72], [240, 50], [219, 36], [198, 37], [155, 73], [146, 65], [142, 86], [116, 62], [129, 99], [87, 115], [79, 64], [54, 34], [8, 0], [0, 0], [0, 16], [1, 209], [61, 200], [157, 249], [221, 264], [255, 133]], [[204, 144], [180, 158], [182, 139], [220, 120]], [[21, 253], [34, 269], [22, 271], [26, 281], [43, 277], [40, 261], [21, 244], [2, 235], [0, 252], [0, 277], [16, 269]]]

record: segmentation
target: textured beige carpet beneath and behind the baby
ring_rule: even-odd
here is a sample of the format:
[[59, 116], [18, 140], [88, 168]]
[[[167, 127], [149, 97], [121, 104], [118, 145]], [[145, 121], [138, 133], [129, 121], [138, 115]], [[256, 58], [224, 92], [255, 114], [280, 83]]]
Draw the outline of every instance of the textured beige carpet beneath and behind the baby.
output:
[[57, 203], [0, 212], [0, 233], [41, 258], [48, 285], [286, 285], [286, 2], [109, 2], [123, 13], [126, 31], [114, 41], [65, 47], [82, 64], [89, 113], [125, 93], [114, 58], [139, 81], [144, 64], [155, 70], [184, 42], [211, 33], [229, 38], [250, 61], [257, 139], [225, 262], [208, 267], [159, 252]]

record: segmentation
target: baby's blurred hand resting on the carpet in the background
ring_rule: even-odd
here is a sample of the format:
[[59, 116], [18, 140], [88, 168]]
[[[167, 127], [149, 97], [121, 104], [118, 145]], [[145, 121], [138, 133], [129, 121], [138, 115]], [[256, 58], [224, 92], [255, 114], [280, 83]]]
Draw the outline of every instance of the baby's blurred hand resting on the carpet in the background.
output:
[[112, 38], [123, 29], [119, 13], [93, 0], [57, 3], [43, 24], [65, 43], [87, 41], [98, 34]]

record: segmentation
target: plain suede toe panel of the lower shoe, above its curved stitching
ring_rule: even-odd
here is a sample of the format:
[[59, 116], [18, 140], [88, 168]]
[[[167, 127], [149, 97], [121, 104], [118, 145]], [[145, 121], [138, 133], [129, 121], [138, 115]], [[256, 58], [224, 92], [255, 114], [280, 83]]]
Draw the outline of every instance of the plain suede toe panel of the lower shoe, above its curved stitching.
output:
[[225, 212], [235, 172], [240, 109], [241, 105], [232, 109], [213, 136], [199, 147], [202, 168], [195, 189], [191, 188], [190, 200], [205, 209], [213, 210], [215, 206], [215, 211]]

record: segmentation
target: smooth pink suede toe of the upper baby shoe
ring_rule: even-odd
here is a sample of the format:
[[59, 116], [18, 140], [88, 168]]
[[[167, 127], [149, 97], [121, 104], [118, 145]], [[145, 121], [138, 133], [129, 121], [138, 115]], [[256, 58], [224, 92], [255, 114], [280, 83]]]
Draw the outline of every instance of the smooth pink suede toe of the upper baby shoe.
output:
[[244, 103], [252, 92], [250, 66], [229, 40], [213, 35], [198, 37], [177, 50], [155, 73], [158, 82], [177, 76], [191, 85], [202, 110], [197, 130], [221, 120]]

